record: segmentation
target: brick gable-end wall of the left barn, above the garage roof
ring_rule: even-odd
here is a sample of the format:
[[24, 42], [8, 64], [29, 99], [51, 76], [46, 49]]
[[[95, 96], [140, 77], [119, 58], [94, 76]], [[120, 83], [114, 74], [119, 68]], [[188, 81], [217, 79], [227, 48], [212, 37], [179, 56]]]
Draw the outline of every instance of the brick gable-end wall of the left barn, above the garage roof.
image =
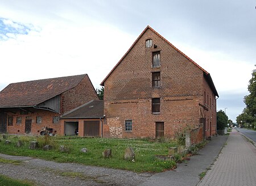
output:
[[90, 100], [98, 100], [98, 95], [88, 75], [86, 75], [75, 88], [61, 94], [60, 112], [65, 113], [71, 111]]

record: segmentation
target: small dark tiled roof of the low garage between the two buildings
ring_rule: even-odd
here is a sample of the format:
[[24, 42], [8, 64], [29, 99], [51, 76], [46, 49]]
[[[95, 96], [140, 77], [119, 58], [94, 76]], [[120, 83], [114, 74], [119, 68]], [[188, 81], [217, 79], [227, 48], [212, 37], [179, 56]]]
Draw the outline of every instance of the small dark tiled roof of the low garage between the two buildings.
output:
[[103, 100], [91, 100], [88, 103], [81, 105], [64, 113], [60, 116], [60, 119], [94, 119], [104, 117], [104, 101]]

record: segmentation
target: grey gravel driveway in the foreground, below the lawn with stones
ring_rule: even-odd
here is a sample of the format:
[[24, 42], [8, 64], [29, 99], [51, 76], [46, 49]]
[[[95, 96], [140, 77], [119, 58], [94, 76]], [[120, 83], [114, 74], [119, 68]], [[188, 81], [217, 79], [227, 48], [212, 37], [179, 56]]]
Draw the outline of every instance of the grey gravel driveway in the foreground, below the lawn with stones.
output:
[[142, 184], [152, 176], [112, 168], [84, 166], [76, 163], [56, 163], [43, 159], [0, 154], [0, 158], [22, 163], [0, 163], [0, 174], [14, 179], [30, 180], [36, 185], [123, 185]]

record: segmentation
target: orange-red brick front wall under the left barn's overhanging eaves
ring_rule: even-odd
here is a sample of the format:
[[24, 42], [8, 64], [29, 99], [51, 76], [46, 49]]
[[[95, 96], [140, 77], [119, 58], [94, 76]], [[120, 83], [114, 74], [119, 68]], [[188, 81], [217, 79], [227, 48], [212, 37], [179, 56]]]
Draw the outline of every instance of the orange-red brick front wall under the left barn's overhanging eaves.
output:
[[[29, 110], [32, 111], [33, 113], [29, 112], [28, 115], [20, 115], [18, 109], [13, 109], [12, 112], [7, 113], [8, 116], [13, 116], [13, 126], [7, 125], [7, 132], [9, 134], [25, 134], [26, 118], [32, 120], [32, 125], [31, 125], [32, 135], [40, 135], [40, 131], [43, 128], [43, 126], [48, 126], [49, 128], [53, 128], [54, 130], [56, 130], [56, 134], [60, 134], [60, 122], [57, 124], [53, 124], [52, 122], [53, 116], [60, 116], [58, 113], [53, 113], [50, 111], [40, 110], [40, 109], [31, 109], [31, 108]], [[36, 116], [42, 117], [41, 124], [36, 123]], [[16, 117], [22, 117], [21, 124], [16, 124]]]

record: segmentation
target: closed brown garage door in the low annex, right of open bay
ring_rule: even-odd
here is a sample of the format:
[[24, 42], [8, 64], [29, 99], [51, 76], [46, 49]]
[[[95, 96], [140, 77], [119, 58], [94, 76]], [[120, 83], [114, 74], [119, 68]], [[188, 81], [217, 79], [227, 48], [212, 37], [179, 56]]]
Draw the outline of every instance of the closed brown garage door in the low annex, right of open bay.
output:
[[100, 136], [100, 121], [84, 121], [84, 136]]

